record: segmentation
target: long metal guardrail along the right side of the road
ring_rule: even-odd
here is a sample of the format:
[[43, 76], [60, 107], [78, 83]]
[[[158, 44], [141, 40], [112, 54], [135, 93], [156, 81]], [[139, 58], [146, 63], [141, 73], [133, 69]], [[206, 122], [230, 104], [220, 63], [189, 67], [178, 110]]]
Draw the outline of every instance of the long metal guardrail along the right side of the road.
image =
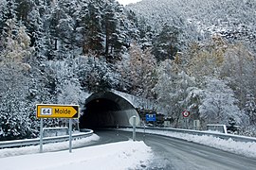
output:
[[[137, 127], [137, 128], [144, 129], [144, 127]], [[207, 136], [218, 137], [225, 140], [232, 139], [233, 141], [236, 141], [236, 142], [256, 143], [256, 138], [233, 135], [233, 134], [225, 134], [225, 133], [222, 134], [222, 133], [213, 133], [213, 132], [199, 131], [199, 130], [192, 130], [192, 129], [170, 128], [170, 127], [145, 127], [145, 129], [173, 131], [178, 133], [187, 133], [187, 134], [199, 135], [199, 136], [207, 135]], [[150, 132], [146, 131], [146, 133], [150, 133]]]

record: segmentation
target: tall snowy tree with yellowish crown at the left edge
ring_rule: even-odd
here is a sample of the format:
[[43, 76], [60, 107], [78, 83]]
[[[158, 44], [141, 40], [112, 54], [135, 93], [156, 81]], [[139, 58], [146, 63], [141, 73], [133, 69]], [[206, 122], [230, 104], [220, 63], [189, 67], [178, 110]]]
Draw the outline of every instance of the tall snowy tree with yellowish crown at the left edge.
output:
[[27, 76], [33, 48], [25, 26], [15, 25], [15, 19], [6, 22], [4, 50], [0, 53], [0, 140], [31, 138], [37, 135], [29, 119], [33, 103], [28, 99], [30, 78]]

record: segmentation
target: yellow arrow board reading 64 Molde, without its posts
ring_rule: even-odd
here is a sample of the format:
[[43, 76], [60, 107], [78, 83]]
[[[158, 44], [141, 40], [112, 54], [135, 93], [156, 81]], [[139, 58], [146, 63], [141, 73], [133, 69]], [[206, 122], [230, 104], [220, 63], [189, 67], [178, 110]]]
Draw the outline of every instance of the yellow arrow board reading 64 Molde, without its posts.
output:
[[37, 118], [79, 118], [78, 105], [36, 105]]

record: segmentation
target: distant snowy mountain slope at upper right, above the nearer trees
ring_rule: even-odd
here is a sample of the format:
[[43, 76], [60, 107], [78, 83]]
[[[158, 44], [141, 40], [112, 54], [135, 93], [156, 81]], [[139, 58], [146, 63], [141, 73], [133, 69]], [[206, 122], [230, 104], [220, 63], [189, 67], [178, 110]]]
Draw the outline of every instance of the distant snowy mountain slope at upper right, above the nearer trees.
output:
[[[159, 30], [165, 23], [181, 28], [188, 41], [214, 33], [232, 41], [256, 41], [254, 0], [142, 0], [127, 6]], [[251, 46], [253, 47], [253, 46]]]

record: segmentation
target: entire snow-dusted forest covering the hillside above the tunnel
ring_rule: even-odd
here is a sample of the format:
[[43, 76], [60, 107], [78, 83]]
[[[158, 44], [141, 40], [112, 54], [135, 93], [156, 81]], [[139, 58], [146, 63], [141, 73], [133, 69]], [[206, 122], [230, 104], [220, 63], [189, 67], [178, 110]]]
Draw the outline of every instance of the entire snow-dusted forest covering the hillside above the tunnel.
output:
[[38, 136], [38, 103], [83, 107], [111, 89], [152, 101], [172, 127], [190, 110], [191, 128], [256, 135], [254, 1], [0, 2], [0, 140]]

